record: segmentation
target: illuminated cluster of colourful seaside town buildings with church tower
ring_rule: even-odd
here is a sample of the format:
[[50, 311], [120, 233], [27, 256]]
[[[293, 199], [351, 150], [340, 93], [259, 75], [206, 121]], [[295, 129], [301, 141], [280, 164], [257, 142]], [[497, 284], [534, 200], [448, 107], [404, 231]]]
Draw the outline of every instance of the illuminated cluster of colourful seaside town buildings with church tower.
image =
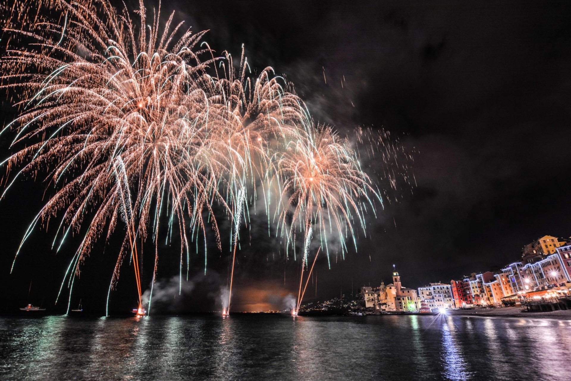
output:
[[[541, 295], [571, 292], [571, 240], [545, 235], [524, 246], [521, 255], [521, 261], [507, 264], [499, 271], [473, 272], [449, 284], [429, 283], [417, 290], [403, 287], [399, 272], [393, 271], [392, 283], [361, 288], [363, 304], [376, 311], [429, 312], [443, 308], [501, 307], [529, 295], [544, 298]], [[545, 292], [537, 294], [540, 291]]]

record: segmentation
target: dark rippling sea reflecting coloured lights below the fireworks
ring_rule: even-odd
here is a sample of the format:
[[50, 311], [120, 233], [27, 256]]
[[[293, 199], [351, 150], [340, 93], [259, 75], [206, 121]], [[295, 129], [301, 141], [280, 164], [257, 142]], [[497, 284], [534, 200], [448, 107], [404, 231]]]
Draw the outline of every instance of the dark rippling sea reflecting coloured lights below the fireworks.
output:
[[0, 380], [571, 380], [571, 321], [0, 318]]

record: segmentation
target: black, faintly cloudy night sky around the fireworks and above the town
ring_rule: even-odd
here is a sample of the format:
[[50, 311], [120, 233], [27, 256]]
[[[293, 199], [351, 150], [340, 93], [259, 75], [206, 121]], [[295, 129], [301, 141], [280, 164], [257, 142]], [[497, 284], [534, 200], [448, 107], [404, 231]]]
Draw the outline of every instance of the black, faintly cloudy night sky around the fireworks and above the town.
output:
[[[317, 299], [387, 283], [393, 263], [405, 286], [419, 287], [514, 262], [542, 235], [571, 235], [571, 3], [163, 2], [163, 17], [171, 10], [195, 31], [210, 29], [204, 41], [212, 49], [239, 56], [244, 44], [253, 69], [285, 74], [316, 121], [340, 131], [383, 127], [416, 151], [417, 186], [403, 186], [399, 202], [370, 221], [357, 252], [333, 257], [331, 270], [318, 260]], [[2, 107], [7, 123], [14, 111]], [[3, 157], [9, 141], [10, 134], [0, 137]], [[55, 255], [54, 232], [36, 231], [9, 274], [44, 190], [27, 179], [0, 202], [2, 306], [53, 306], [75, 250], [71, 242]], [[260, 237], [255, 229], [243, 235], [235, 310], [279, 308], [296, 290], [299, 264], [284, 264], [283, 248]], [[83, 298], [88, 310], [104, 308], [117, 250], [111, 242], [93, 251], [73, 304]], [[209, 250], [207, 275], [195, 255], [188, 292], [166, 300], [167, 310], [219, 308], [228, 247]], [[161, 255], [159, 279], [178, 288], [178, 248]], [[143, 264], [147, 284], [151, 256]], [[135, 300], [126, 266], [111, 308], [128, 310]]]

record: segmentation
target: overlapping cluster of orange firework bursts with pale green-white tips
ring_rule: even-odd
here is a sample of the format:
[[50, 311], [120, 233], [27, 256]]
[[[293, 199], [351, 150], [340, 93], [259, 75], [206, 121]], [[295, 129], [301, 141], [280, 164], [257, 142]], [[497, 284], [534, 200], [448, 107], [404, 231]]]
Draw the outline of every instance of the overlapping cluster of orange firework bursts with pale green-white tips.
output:
[[[178, 236], [181, 282], [184, 264], [188, 279], [190, 242], [198, 251], [202, 234], [206, 272], [208, 224], [222, 250], [215, 207], [233, 227], [231, 290], [240, 225], [257, 189], [268, 227], [275, 224], [286, 247], [295, 249], [296, 231], [303, 232], [302, 266], [313, 235], [329, 260], [329, 235], [344, 252], [348, 237], [356, 244], [356, 227], [365, 231], [365, 215], [381, 198], [361, 170], [359, 151], [330, 127], [316, 127], [271, 67], [252, 77], [242, 52], [235, 69], [229, 53], [215, 55], [201, 42], [206, 32], [174, 25], [174, 13], [161, 23], [160, 6], [147, 20], [142, 1], [135, 14], [108, 0], [15, 0], [0, 7], [6, 44], [0, 87], [19, 110], [2, 130], [13, 131], [14, 153], [1, 163], [8, 178], [0, 198], [21, 175], [45, 179], [47, 202], [14, 264], [38, 224], [47, 229], [56, 220], [56, 251], [70, 234], [80, 235], [58, 299], [67, 282], [71, 300], [94, 244], [119, 230], [123, 244], [107, 304], [128, 257], [140, 311], [143, 243], [155, 245], [152, 298], [159, 232], [167, 242], [173, 231]], [[230, 300], [231, 293], [226, 311]]]

